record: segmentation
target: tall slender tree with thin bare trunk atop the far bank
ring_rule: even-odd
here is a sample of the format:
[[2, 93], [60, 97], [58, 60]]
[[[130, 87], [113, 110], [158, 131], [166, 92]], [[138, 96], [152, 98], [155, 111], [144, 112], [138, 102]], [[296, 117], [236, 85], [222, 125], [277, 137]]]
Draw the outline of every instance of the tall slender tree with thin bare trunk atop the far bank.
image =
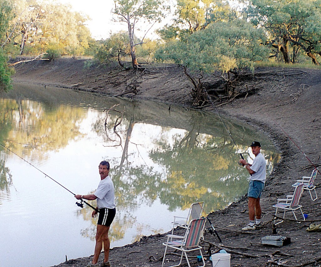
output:
[[[156, 23], [164, 17], [164, 11], [168, 8], [164, 5], [164, 0], [114, 0], [114, 13], [121, 22], [125, 22], [128, 28], [130, 56], [134, 68], [138, 67], [135, 53], [135, 46], [143, 44], [146, 33]], [[134, 42], [134, 34], [137, 29], [137, 23], [149, 25], [150, 28], [145, 31], [145, 36], [140, 42]], [[143, 24], [144, 23], [144, 24]]]

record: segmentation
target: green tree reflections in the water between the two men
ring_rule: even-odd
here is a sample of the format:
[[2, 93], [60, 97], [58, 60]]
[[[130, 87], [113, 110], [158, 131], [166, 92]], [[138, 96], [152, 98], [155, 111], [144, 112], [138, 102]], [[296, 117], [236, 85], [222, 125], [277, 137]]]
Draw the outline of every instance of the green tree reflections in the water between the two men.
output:
[[[143, 119], [141, 114], [123, 115], [123, 112], [118, 112], [117, 116], [108, 112], [93, 125], [104, 138], [105, 146], [118, 143], [122, 147], [121, 159], [111, 159], [116, 163], [111, 173], [117, 188], [118, 207], [134, 210], [138, 203], [151, 205], [159, 198], [170, 211], [174, 211], [177, 208], [187, 209], [192, 202], [201, 200], [205, 202], [205, 210], [210, 212], [224, 208], [246, 193], [248, 173], [237, 164], [237, 148], [218, 119], [211, 121], [212, 134], [209, 134], [211, 125], [205, 126], [207, 133], [202, 132], [209, 118], [200, 113], [190, 116], [185, 134], [173, 135], [171, 140], [168, 136], [162, 138], [160, 134], [158, 141], [146, 149], [150, 149], [150, 159], [155, 165], [162, 166], [162, 171], [156, 170], [155, 166], [133, 164], [134, 155], [128, 154], [128, 147], [130, 144], [136, 146], [130, 142], [131, 134], [134, 126]], [[155, 121], [158, 123], [160, 120]], [[245, 140], [239, 147], [245, 151], [253, 138], [252, 133], [243, 126], [228, 125], [235, 136]], [[168, 127], [164, 126], [161, 133], [167, 130]], [[125, 142], [119, 141], [116, 135]], [[278, 155], [268, 150], [264, 153], [268, 166], [272, 167]]]

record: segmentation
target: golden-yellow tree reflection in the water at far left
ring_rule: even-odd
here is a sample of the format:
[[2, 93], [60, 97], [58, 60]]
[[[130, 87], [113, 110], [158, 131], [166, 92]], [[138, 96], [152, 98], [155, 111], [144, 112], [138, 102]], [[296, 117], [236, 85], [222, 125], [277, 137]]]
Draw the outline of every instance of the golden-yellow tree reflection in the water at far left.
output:
[[82, 108], [19, 98], [0, 101], [0, 136], [19, 155], [46, 160], [45, 151], [65, 147], [81, 135], [78, 122], [84, 116]]

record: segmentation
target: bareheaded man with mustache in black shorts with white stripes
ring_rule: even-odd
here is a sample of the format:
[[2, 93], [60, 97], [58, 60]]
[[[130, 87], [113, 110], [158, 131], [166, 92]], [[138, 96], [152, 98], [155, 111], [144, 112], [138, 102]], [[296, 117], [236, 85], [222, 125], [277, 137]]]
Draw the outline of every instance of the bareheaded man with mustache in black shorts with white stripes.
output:
[[116, 214], [115, 205], [115, 188], [111, 178], [108, 176], [109, 162], [101, 161], [99, 164], [100, 183], [94, 194], [75, 195], [76, 199], [97, 199], [97, 208], [91, 214], [91, 217], [96, 217], [99, 212], [96, 233], [96, 246], [93, 259], [88, 263], [88, 267], [99, 266], [98, 258], [104, 245], [104, 259], [100, 266], [110, 266], [109, 263], [109, 247], [110, 241], [108, 231], [110, 224], [114, 220]]

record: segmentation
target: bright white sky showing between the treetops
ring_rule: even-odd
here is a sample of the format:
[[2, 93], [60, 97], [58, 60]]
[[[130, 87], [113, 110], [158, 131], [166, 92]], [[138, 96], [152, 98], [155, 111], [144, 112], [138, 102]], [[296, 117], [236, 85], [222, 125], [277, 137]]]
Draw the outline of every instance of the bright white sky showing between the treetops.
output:
[[[70, 4], [73, 11], [89, 15], [91, 20], [87, 22], [87, 26], [91, 31], [92, 37], [96, 40], [106, 39], [111, 33], [116, 33], [120, 30], [127, 31], [127, 25], [113, 21], [113, 18], [115, 18], [112, 13], [113, 0], [56, 0], [56, 2]], [[155, 26], [153, 29], [160, 27]], [[142, 38], [144, 32], [136, 31], [135, 35]], [[150, 39], [157, 39], [157, 35], [153, 34], [152, 31], [146, 36]]]

